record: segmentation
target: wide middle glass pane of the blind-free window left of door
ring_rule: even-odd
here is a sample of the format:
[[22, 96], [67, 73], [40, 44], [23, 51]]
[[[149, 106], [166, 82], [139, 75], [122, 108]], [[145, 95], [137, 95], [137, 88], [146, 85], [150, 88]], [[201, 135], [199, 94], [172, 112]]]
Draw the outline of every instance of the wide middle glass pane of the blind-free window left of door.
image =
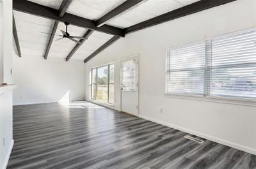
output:
[[108, 102], [108, 66], [98, 68], [97, 99]]

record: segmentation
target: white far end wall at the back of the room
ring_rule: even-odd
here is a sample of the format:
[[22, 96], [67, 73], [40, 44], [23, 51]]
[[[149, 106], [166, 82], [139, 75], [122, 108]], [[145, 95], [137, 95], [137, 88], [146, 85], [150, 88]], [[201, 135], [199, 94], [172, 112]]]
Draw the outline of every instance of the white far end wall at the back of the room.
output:
[[[51, 103], [60, 101], [69, 91], [70, 101], [84, 99], [84, 63], [81, 60], [13, 52], [13, 105]], [[66, 95], [67, 96], [67, 95]]]

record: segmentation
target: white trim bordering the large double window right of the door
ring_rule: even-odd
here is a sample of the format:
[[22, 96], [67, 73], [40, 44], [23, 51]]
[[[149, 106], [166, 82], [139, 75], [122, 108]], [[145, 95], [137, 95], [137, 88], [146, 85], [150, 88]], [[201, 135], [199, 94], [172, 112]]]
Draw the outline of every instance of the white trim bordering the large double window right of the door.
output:
[[[221, 34], [220, 36], [214, 36], [211, 38], [205, 38], [205, 48], [206, 48], [206, 43], [209, 40], [214, 40], [214, 38], [225, 38], [228, 36], [234, 36], [237, 34], [242, 34], [242, 33], [248, 33], [250, 31], [256, 31], [256, 27], [250, 27], [247, 29], [242, 29], [240, 31], [234, 31], [232, 33], [225, 33], [225, 34]], [[205, 36], [206, 37], [206, 36]], [[196, 43], [202, 43], [201, 41], [193, 41], [190, 43], [186, 43], [184, 45], [180, 45], [180, 46], [175, 46], [175, 47], [171, 47], [171, 48], [167, 48], [165, 51], [165, 70], [164, 70], [164, 75], [165, 75], [165, 82], [164, 82], [164, 95], [166, 97], [170, 97], [170, 98], [180, 98], [180, 99], [193, 99], [193, 100], [198, 100], [198, 101], [209, 101], [209, 102], [215, 102], [215, 103], [225, 103], [225, 104], [232, 104], [232, 105], [245, 105], [245, 106], [250, 106], [250, 107], [256, 107], [256, 99], [250, 99], [250, 98], [239, 98], [239, 97], [228, 97], [228, 96], [209, 96], [209, 95], [205, 95], [205, 96], [200, 96], [200, 95], [196, 95], [196, 94], [182, 94], [182, 93], [172, 93], [172, 92], [166, 92], [166, 68], [167, 68], [167, 52], [168, 50], [175, 50], [177, 48], [182, 48], [182, 47], [188, 47], [189, 45], [195, 45]], [[206, 49], [205, 49], [206, 52]], [[207, 68], [206, 65], [206, 60], [207, 60], [207, 55], [205, 54], [205, 68]], [[206, 80], [207, 77], [205, 77]], [[207, 83], [205, 81], [205, 83]]]

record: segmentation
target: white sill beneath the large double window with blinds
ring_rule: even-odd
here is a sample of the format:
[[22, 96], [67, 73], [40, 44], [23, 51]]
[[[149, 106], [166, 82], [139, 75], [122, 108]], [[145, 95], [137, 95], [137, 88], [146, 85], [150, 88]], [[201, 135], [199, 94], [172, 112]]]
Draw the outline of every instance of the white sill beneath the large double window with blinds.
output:
[[243, 105], [249, 107], [256, 107], [256, 100], [244, 99], [244, 98], [223, 98], [218, 96], [198, 96], [193, 94], [176, 94], [176, 93], [164, 93], [166, 97], [179, 98], [179, 99], [193, 99], [197, 101], [208, 101], [215, 103], [223, 103], [230, 105]]

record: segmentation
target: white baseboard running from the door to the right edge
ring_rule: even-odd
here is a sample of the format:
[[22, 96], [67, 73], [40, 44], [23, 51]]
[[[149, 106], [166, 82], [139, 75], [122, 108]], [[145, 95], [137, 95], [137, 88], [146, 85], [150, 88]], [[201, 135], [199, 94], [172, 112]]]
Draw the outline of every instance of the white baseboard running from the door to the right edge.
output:
[[163, 121], [159, 121], [159, 120], [156, 120], [156, 119], [152, 119], [151, 117], [147, 117], [145, 115], [140, 115], [139, 114], [139, 117], [142, 118], [142, 119], [146, 119], [148, 121], [152, 121], [152, 122], [156, 122], [158, 124], [162, 124], [164, 126], [168, 126], [170, 128], [174, 128], [174, 129], [178, 129], [180, 131], [184, 131], [184, 132], [189, 133], [191, 135], [200, 136], [200, 137], [205, 138], [207, 140], [211, 140], [212, 142], [221, 143], [223, 145], [227, 145], [228, 147], [232, 147], [234, 149], [238, 149], [238, 150], [241, 150], [241, 151], [248, 152], [250, 154], [256, 155], [256, 150], [255, 149], [252, 149], [250, 147], [246, 147], [244, 145], [239, 145], [237, 143], [228, 142], [227, 140], [222, 140], [220, 138], [216, 138], [214, 136], [205, 135], [203, 133], [198, 133], [198, 132], [193, 131], [191, 129], [182, 128], [180, 126], [176, 126], [176, 125], [170, 124], [168, 122], [163, 122]]

